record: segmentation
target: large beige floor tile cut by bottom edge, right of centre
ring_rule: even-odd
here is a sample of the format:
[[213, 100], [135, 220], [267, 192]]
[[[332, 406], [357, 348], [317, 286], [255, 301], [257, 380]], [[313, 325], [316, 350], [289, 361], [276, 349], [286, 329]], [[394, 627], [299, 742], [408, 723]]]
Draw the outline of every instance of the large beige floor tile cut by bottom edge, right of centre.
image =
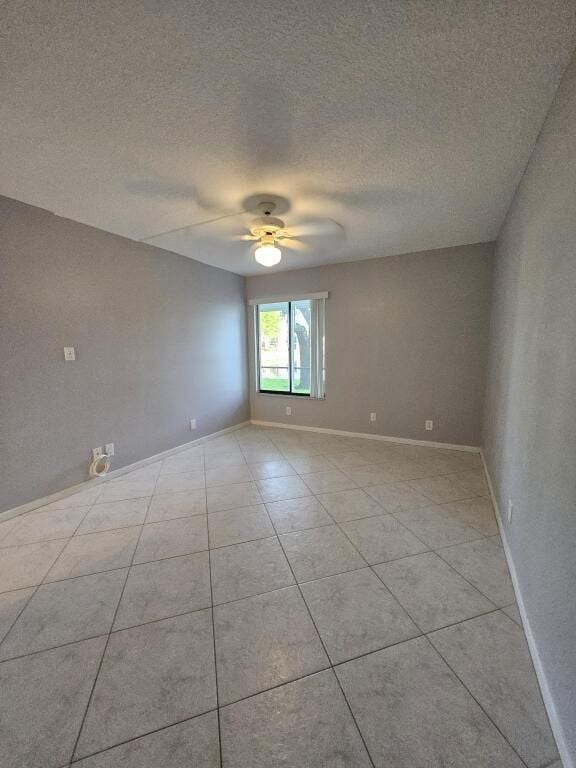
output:
[[379, 768], [522, 768], [425, 638], [346, 662], [335, 671]]

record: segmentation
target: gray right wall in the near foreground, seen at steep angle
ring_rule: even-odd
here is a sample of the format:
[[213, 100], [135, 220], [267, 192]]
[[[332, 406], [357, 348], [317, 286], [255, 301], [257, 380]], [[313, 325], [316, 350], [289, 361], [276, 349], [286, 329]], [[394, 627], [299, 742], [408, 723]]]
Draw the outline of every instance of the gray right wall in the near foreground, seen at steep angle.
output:
[[576, 765], [576, 60], [498, 238], [483, 444]]

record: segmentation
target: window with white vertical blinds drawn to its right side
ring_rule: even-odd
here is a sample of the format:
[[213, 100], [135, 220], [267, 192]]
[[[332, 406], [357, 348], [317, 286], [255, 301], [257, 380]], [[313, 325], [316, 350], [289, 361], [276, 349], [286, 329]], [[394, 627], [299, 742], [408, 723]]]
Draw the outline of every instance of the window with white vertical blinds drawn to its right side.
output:
[[258, 390], [324, 397], [324, 298], [254, 304]]

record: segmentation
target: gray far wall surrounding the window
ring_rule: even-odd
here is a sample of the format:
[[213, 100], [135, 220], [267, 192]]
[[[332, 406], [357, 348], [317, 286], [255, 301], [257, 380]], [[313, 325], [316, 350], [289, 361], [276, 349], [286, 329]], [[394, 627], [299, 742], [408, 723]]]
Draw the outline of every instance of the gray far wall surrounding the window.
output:
[[479, 445], [492, 254], [484, 243], [249, 277], [251, 298], [330, 292], [325, 401], [256, 392], [249, 310], [252, 418]]

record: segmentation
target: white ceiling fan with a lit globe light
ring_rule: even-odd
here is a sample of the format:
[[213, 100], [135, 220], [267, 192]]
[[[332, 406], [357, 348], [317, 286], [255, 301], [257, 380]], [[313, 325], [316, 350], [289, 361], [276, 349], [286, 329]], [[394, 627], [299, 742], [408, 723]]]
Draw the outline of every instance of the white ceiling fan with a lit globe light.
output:
[[273, 214], [283, 214], [290, 208], [288, 200], [277, 195], [253, 195], [243, 202], [243, 208], [240, 211], [225, 213], [222, 216], [190, 224], [185, 227], [179, 227], [168, 232], [161, 232], [145, 238], [146, 241], [163, 237], [164, 235], [175, 232], [194, 229], [208, 224], [217, 224], [222, 219], [228, 219], [232, 216], [241, 214], [259, 214], [248, 226], [248, 232], [241, 235], [226, 238], [227, 240], [242, 240], [253, 242], [252, 247], [255, 260], [264, 267], [273, 267], [282, 258], [282, 248], [289, 248], [298, 251], [308, 251], [310, 245], [301, 238], [308, 237], [342, 237], [344, 229], [341, 224], [333, 219], [320, 219], [317, 221], [308, 221], [296, 226], [287, 226], [284, 221]]

